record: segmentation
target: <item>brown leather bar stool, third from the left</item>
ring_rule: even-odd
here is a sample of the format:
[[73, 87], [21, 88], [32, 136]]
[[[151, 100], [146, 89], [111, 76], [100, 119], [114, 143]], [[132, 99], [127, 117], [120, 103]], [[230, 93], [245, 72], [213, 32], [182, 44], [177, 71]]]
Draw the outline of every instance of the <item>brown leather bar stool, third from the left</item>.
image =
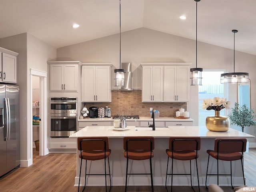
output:
[[[192, 186], [192, 174], [191, 174], [191, 160], [196, 160], [196, 172], [197, 172], [197, 182], [198, 182], [198, 191], [200, 192], [199, 186], [199, 178], [198, 178], [198, 166], [197, 166], [197, 158], [198, 158], [198, 150], [200, 150], [201, 140], [199, 137], [170, 137], [169, 138], [169, 149], [166, 149], [166, 153], [168, 155], [167, 160], [167, 168], [166, 168], [166, 180], [165, 180], [165, 188], [167, 189], [167, 175], [190, 175], [191, 188], [194, 190]], [[168, 174], [168, 163], [169, 157], [172, 158], [172, 173]], [[190, 160], [190, 174], [174, 174], [173, 173], [173, 160]], [[172, 182], [171, 182], [171, 191], [172, 191]], [[195, 191], [195, 190], [194, 190]]]

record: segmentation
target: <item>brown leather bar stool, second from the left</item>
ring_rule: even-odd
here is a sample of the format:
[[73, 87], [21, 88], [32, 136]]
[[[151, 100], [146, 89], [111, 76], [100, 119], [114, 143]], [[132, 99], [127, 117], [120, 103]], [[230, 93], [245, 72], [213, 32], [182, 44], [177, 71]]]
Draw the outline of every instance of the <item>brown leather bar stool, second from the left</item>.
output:
[[[154, 157], [154, 137], [124, 137], [124, 157], [126, 161], [126, 179], [125, 191], [127, 190], [128, 175], [149, 175], [151, 177], [151, 188], [154, 192], [153, 174], [152, 174], [152, 157]], [[128, 161], [132, 160], [150, 160], [150, 173], [129, 173]]]

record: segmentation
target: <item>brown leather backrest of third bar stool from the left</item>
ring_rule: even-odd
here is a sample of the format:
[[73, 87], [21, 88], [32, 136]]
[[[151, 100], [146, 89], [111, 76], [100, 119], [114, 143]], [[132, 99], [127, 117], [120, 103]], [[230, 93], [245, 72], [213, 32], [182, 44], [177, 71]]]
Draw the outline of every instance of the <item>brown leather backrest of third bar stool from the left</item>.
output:
[[178, 150], [200, 150], [200, 137], [170, 137], [169, 149]]

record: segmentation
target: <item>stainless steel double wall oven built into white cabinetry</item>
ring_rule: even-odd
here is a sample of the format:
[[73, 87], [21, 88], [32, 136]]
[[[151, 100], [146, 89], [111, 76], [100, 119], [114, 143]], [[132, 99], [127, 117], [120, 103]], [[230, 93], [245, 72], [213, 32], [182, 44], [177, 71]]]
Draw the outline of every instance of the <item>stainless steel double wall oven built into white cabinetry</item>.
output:
[[68, 137], [77, 131], [77, 98], [50, 98], [50, 137]]

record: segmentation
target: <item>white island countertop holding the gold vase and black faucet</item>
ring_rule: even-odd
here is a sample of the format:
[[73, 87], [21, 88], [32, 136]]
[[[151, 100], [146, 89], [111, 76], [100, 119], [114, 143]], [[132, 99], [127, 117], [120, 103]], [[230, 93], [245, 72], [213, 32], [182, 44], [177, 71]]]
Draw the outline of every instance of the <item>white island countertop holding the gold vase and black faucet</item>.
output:
[[243, 137], [255, 138], [253, 135], [229, 129], [226, 132], [212, 132], [205, 126], [169, 126], [158, 128], [153, 131], [148, 127], [128, 126], [128, 130], [114, 130], [114, 126], [87, 126], [74, 133], [70, 138], [107, 136], [109, 138], [123, 138], [124, 136], [153, 136], [155, 138], [168, 138], [170, 136], [196, 136], [200, 138], [221, 138], [221, 137]]

